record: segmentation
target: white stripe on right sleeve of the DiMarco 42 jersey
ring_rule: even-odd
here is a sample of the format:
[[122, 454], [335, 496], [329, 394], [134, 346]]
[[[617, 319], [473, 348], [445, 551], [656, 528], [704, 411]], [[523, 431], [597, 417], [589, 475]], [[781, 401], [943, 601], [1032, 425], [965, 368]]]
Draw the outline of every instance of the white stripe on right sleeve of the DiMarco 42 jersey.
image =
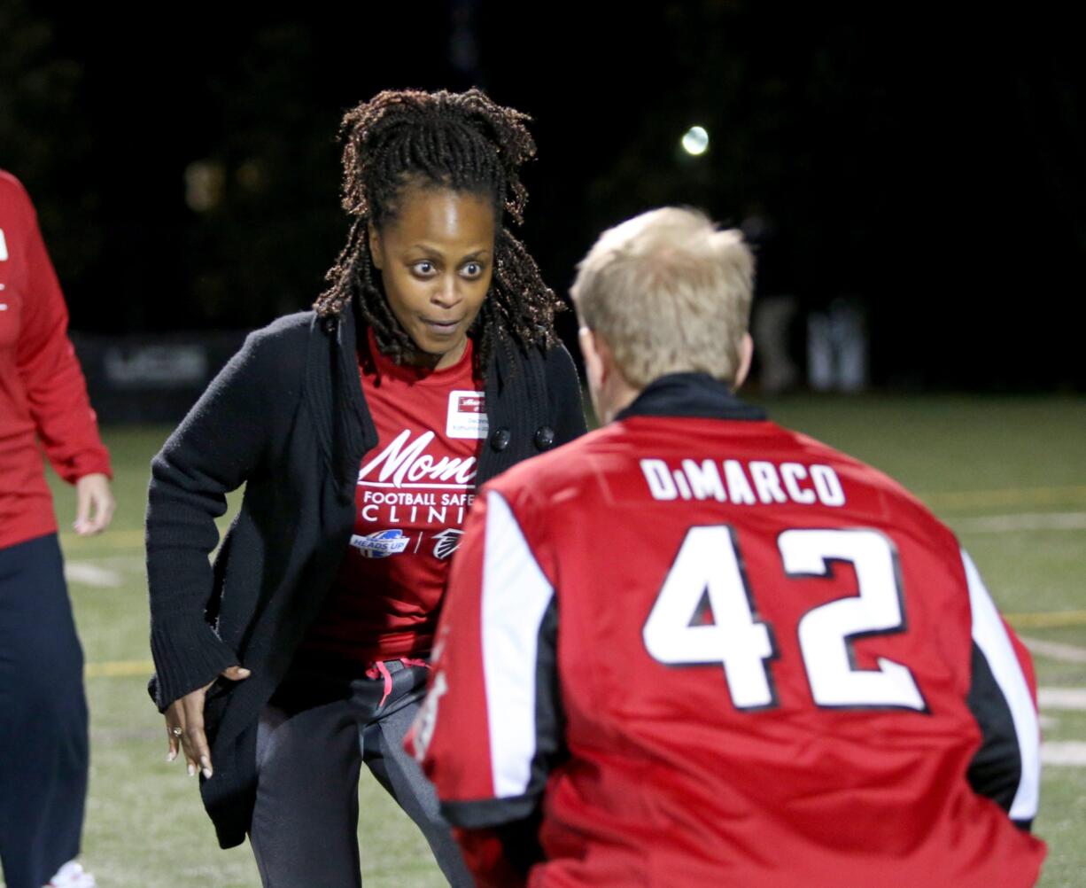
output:
[[976, 565], [964, 550], [961, 559], [965, 564], [969, 602], [973, 610], [973, 641], [988, 661], [988, 668], [1007, 700], [1022, 758], [1022, 776], [1008, 813], [1013, 821], [1031, 821], [1037, 815], [1040, 788], [1040, 726], [1037, 710], [1014, 653], [1014, 646], [1003, 628], [992, 596], [984, 587]]

